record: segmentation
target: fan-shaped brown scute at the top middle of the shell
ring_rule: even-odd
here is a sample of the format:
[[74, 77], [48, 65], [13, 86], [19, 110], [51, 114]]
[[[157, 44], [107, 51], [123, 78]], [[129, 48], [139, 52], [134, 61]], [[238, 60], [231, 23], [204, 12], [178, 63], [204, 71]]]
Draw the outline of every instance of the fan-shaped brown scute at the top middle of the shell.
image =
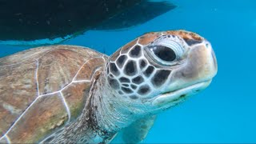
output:
[[38, 60], [39, 94], [48, 94], [72, 82], [86, 58], [73, 50], [54, 50]]

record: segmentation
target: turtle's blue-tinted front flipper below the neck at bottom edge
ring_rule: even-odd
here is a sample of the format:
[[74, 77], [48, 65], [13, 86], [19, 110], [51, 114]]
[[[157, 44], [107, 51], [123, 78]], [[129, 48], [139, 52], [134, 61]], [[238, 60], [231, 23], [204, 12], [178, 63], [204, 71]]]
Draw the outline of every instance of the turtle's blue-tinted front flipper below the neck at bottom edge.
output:
[[138, 143], [142, 142], [154, 125], [156, 115], [139, 119], [119, 132], [112, 143]]

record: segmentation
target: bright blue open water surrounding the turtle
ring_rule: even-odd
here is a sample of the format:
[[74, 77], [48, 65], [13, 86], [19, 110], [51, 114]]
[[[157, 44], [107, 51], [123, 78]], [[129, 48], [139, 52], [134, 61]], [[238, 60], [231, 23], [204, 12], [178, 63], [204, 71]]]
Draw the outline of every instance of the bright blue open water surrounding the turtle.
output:
[[[90, 30], [64, 44], [112, 54], [141, 34], [190, 30], [208, 39], [218, 74], [201, 94], [159, 114], [145, 143], [256, 142], [256, 1], [170, 0], [166, 14], [127, 30]], [[0, 57], [31, 46], [0, 46]]]

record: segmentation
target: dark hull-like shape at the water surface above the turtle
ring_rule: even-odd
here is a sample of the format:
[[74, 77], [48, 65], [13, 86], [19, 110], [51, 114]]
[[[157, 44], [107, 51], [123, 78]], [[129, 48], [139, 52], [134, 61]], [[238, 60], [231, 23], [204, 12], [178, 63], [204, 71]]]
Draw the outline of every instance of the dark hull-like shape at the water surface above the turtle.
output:
[[86, 30], [136, 26], [174, 8], [147, 0], [1, 0], [0, 43], [58, 43]]

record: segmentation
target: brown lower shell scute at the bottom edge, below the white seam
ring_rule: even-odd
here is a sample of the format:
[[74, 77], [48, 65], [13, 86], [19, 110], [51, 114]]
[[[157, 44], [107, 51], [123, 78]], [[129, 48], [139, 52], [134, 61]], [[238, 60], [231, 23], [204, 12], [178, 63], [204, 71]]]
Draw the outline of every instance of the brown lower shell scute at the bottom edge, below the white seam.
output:
[[11, 142], [33, 143], [68, 121], [60, 94], [38, 98], [8, 133]]

